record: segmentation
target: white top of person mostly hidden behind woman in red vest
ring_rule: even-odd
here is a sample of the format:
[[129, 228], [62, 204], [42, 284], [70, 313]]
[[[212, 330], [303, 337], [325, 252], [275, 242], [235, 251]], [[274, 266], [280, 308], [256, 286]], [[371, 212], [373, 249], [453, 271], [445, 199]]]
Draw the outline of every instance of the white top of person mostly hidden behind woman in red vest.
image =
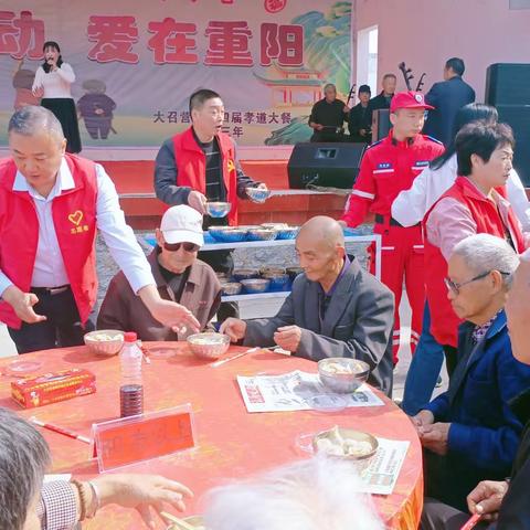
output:
[[[403, 226], [420, 223], [432, 205], [455, 183], [458, 172], [456, 155], [441, 168], [425, 168], [415, 179], [412, 188], [402, 191], [392, 203], [392, 216]], [[530, 203], [517, 171], [512, 169], [506, 182], [508, 201], [522, 224], [530, 231]]]

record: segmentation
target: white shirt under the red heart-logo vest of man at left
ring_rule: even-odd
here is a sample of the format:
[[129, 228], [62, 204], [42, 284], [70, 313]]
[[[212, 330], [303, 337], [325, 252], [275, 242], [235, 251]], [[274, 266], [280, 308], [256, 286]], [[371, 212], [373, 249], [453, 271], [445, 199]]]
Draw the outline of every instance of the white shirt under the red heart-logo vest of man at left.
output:
[[[136, 241], [132, 229], [125, 222], [114, 182], [98, 163], [96, 163], [96, 226], [132, 290], [138, 293], [146, 285], [155, 285], [151, 267]], [[41, 197], [33, 187], [28, 184], [22, 173], [17, 171], [13, 190], [30, 193], [39, 218], [39, 244], [31, 278], [32, 287], [59, 287], [70, 283], [53, 224], [52, 202], [63, 190], [71, 190], [74, 187], [74, 179], [64, 158], [55, 186], [47, 198]], [[0, 269], [0, 296], [10, 285], [13, 285], [12, 282]]]

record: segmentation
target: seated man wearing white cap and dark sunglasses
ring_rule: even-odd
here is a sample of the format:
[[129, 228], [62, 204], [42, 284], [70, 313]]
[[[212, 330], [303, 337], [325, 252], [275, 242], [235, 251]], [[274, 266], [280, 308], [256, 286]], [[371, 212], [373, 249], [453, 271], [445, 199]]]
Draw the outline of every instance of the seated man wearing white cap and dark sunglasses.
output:
[[[156, 231], [157, 247], [148, 257], [160, 297], [187, 307], [201, 329], [210, 326], [221, 303], [221, 285], [210, 265], [197, 259], [204, 244], [202, 215], [190, 206], [172, 206]], [[141, 340], [179, 340], [179, 333], [152, 318], [118, 273], [103, 300], [98, 329], [134, 330]], [[182, 330], [181, 337], [189, 335]]]

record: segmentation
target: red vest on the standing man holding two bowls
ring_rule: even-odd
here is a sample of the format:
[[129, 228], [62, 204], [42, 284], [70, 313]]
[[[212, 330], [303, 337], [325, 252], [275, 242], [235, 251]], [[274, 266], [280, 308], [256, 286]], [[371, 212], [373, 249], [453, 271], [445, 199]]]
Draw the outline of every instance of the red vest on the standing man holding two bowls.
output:
[[[237, 172], [235, 170], [235, 149], [229, 136], [216, 136], [221, 150], [221, 167], [226, 187], [226, 200], [232, 204], [229, 224], [237, 224]], [[188, 186], [192, 190], [206, 193], [206, 157], [197, 144], [193, 128], [173, 136], [174, 158], [177, 161], [177, 186]]]

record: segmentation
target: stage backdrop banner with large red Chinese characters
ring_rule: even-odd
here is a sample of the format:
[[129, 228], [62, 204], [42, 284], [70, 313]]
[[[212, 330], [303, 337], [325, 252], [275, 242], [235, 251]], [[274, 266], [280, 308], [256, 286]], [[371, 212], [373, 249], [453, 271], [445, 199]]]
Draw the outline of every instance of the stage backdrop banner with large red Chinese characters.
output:
[[351, 2], [0, 0], [2, 144], [13, 108], [34, 102], [46, 40], [76, 73], [85, 146], [160, 145], [189, 126], [200, 87], [222, 95], [225, 131], [240, 145], [295, 144], [310, 136], [325, 83], [349, 92]]

